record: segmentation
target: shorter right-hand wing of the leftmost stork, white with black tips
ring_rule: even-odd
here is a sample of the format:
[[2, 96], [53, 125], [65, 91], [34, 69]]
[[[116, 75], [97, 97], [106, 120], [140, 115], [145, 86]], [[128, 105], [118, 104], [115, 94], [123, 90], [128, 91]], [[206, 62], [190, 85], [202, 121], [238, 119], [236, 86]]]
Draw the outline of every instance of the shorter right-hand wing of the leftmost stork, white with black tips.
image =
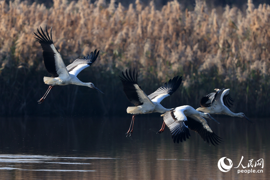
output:
[[83, 69], [86, 67], [91, 66], [93, 62], [98, 58], [99, 51], [97, 52], [97, 49], [93, 52], [88, 54], [86, 57], [78, 58], [73, 63], [69, 64], [67, 66], [67, 70], [70, 74], [74, 74], [77, 76]]

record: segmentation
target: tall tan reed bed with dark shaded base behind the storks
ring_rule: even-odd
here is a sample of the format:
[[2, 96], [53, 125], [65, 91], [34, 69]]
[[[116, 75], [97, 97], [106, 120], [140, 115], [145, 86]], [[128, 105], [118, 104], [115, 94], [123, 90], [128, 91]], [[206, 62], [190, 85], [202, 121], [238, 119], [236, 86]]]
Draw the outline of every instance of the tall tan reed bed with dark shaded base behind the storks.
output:
[[[214, 88], [230, 88], [232, 112], [248, 117], [270, 115], [270, 6], [242, 12], [226, 6], [223, 12], [196, 1], [193, 11], [170, 1], [156, 10], [153, 1], [137, 0], [124, 8], [115, 1], [90, 4], [54, 0], [52, 7], [27, 1], [0, 1], [0, 115], [1, 116], [126, 116], [133, 106], [119, 78], [130, 67], [147, 95], [174, 76], [183, 76], [179, 89], [161, 104], [190, 105]], [[68, 85], [53, 88], [46, 101], [43, 76], [49, 76], [37, 28], [52, 26], [53, 42], [66, 64], [95, 49], [100, 55], [78, 78], [91, 88]]]

